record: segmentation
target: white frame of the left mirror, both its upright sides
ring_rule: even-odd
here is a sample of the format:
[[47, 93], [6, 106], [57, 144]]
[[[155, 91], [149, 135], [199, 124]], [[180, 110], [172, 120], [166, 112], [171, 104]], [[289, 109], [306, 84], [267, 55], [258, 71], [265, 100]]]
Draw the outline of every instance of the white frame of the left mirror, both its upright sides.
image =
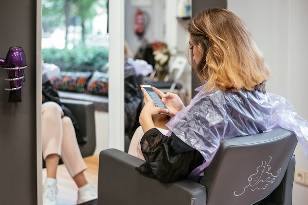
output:
[[[108, 2], [109, 27], [109, 148], [124, 150], [124, 5], [125, 0]], [[36, 0], [36, 161], [37, 161], [37, 205], [42, 205], [42, 0]], [[110, 35], [110, 33], [112, 35]], [[120, 40], [119, 40], [120, 39]], [[112, 47], [110, 47], [112, 45]], [[122, 77], [119, 77], [122, 76]], [[119, 109], [119, 107], [121, 109]], [[119, 121], [119, 119], [123, 119]]]

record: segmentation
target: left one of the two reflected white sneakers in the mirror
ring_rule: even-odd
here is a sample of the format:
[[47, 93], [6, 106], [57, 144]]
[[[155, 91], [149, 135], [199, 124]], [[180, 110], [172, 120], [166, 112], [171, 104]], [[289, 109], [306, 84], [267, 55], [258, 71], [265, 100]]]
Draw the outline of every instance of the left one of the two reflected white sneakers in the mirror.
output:
[[58, 205], [57, 179], [46, 178], [43, 186], [43, 205]]

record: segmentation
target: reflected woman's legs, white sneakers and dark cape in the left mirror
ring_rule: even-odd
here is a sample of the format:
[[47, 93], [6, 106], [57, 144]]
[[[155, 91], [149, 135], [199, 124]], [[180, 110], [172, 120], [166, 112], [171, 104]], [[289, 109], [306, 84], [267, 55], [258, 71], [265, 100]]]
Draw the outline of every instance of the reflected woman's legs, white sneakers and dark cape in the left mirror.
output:
[[79, 188], [77, 204], [96, 199], [97, 190], [88, 183], [84, 175], [87, 165], [80, 153], [71, 119], [73, 117], [64, 114], [64, 105], [59, 101], [57, 90], [44, 72], [42, 79], [42, 150], [47, 170], [43, 186], [43, 205], [58, 204], [57, 168], [60, 157]]

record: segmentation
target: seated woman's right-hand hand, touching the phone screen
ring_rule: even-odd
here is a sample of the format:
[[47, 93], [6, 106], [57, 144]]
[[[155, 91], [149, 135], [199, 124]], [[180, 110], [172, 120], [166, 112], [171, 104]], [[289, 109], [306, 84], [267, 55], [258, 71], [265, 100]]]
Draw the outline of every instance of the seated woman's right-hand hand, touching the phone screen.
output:
[[180, 99], [180, 97], [177, 94], [174, 93], [166, 93], [164, 94], [160, 90], [158, 90], [155, 87], [152, 87], [155, 93], [161, 98], [161, 101], [166, 105], [166, 107], [169, 110], [169, 113], [167, 113], [169, 116], [173, 117], [178, 112], [180, 112], [182, 109], [185, 108], [184, 103]]

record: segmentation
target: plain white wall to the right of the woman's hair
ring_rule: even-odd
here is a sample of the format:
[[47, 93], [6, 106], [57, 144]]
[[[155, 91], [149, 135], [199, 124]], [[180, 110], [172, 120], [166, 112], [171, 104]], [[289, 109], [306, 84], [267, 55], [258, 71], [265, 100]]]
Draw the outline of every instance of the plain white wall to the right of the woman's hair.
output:
[[[227, 8], [244, 20], [273, 70], [267, 90], [288, 99], [308, 119], [307, 0], [228, 0]], [[300, 144], [296, 169], [308, 170]], [[308, 187], [294, 183], [293, 205], [308, 201]]]

